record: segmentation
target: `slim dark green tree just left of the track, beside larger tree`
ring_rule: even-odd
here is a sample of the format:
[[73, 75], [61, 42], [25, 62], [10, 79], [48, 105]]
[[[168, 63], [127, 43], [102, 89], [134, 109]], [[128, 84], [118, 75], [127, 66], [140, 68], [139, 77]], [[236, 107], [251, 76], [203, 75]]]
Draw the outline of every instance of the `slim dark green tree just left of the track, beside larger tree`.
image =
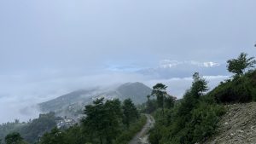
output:
[[129, 128], [132, 121], [138, 118], [137, 108], [131, 99], [126, 99], [123, 104], [123, 123]]

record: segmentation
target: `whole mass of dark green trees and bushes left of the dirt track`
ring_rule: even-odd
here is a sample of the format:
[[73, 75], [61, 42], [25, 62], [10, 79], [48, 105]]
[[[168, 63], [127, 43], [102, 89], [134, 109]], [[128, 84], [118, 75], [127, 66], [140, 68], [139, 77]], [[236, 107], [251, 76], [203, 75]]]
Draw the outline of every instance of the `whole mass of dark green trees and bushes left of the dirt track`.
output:
[[[38, 144], [125, 143], [146, 123], [145, 117], [137, 120], [137, 108], [130, 99], [125, 100], [123, 105], [119, 100], [96, 99], [85, 106], [84, 114], [86, 117], [81, 125], [76, 124], [67, 130], [55, 128], [45, 133]], [[125, 115], [132, 118], [129, 128], [122, 123]]]

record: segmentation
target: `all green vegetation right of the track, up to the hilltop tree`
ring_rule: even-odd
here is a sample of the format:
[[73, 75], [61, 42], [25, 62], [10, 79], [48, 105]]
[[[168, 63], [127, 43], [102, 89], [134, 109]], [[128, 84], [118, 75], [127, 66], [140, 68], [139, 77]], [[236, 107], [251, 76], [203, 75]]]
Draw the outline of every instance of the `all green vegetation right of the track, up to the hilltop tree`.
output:
[[[148, 101], [145, 111], [152, 113], [156, 121], [149, 133], [151, 144], [206, 141], [216, 133], [218, 121], [225, 113], [224, 104], [256, 101], [256, 71], [252, 69], [256, 63], [254, 58], [241, 53], [237, 59], [227, 63], [228, 71], [234, 75], [209, 92], [206, 79], [195, 72], [191, 87], [173, 106], [163, 107], [168, 101], [160, 96], [157, 96], [157, 101]], [[157, 86], [166, 89], [163, 84], [154, 87]]]

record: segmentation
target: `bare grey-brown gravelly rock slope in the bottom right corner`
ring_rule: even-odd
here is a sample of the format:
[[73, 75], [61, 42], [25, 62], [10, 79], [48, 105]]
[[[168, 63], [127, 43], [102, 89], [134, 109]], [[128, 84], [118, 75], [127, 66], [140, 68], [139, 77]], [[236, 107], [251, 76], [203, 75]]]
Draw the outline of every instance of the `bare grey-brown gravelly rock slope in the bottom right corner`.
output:
[[226, 105], [216, 135], [205, 144], [255, 144], [256, 102]]

